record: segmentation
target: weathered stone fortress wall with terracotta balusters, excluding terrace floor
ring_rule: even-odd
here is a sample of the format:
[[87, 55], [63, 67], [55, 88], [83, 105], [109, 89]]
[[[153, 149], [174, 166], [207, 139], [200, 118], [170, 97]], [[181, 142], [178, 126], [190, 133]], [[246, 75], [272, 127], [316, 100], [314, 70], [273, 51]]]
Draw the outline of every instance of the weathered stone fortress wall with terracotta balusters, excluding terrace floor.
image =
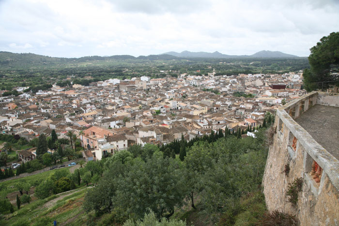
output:
[[[339, 161], [294, 121], [314, 105], [339, 107], [339, 94], [313, 91], [277, 109], [263, 193], [268, 210], [295, 215], [301, 225], [339, 226]], [[297, 178], [304, 182], [292, 205], [286, 192]]]

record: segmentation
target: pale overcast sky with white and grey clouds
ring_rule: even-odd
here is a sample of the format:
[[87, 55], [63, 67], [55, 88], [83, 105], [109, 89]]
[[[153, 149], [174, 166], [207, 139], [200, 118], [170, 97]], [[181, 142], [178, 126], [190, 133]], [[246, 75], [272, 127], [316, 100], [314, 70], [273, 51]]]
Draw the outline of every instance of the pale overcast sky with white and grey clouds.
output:
[[0, 0], [0, 51], [52, 57], [308, 56], [333, 31], [339, 0]]

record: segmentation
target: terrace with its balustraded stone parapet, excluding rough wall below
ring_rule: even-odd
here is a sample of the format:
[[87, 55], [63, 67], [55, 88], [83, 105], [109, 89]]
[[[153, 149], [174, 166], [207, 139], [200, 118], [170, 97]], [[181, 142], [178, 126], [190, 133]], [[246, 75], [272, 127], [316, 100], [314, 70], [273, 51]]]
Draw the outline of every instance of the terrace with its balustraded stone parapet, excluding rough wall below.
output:
[[277, 137], [286, 142], [291, 161], [303, 158], [302, 176], [314, 196], [326, 186], [324, 177], [338, 192], [339, 94], [308, 93], [277, 109], [276, 119]]

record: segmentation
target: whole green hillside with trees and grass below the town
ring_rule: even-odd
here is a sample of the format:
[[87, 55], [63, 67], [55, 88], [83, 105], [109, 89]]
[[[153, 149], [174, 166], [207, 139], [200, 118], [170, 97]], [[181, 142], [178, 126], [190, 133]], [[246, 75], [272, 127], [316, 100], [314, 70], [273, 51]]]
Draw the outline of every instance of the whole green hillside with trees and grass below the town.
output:
[[[273, 119], [267, 114], [264, 125], [269, 126]], [[29, 177], [18, 179], [19, 183], [7, 181], [3, 186], [15, 184], [20, 201], [17, 207], [9, 205], [2, 211], [16, 213], [0, 222], [36, 225], [58, 219], [72, 225], [260, 224], [270, 214], [261, 182], [272, 132], [270, 128], [257, 129], [256, 138], [242, 138], [254, 130], [249, 127], [246, 131], [219, 130], [161, 147], [133, 145], [101, 161], [82, 163], [71, 173], [58, 169], [45, 172], [48, 174], [39, 176], [38, 181]], [[26, 190], [34, 191], [33, 199], [23, 197]], [[45, 209], [67, 191], [69, 197], [62, 195], [64, 201]], [[31, 212], [33, 206], [36, 210]]]

